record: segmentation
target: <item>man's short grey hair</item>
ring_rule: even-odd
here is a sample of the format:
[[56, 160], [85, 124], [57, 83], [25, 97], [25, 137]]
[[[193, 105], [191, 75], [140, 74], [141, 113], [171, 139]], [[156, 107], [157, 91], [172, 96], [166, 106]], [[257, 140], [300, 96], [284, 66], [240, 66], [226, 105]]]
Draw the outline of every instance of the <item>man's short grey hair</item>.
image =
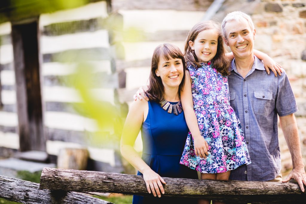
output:
[[248, 14], [243, 13], [241, 11], [234, 11], [234, 12], [228, 13], [222, 21], [221, 27], [222, 27], [223, 37], [225, 37], [227, 39], [226, 32], [225, 32], [225, 25], [228, 21], [241, 22], [243, 19], [248, 21], [248, 24], [250, 25], [252, 31], [255, 29], [254, 23], [253, 23], [251, 17]]

